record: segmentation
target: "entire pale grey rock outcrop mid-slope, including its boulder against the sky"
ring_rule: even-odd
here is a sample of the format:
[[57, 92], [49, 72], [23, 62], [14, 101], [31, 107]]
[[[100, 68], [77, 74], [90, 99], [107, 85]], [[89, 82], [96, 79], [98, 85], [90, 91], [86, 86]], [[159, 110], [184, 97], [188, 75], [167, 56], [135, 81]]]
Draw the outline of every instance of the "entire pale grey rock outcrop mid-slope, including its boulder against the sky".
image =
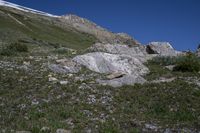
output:
[[148, 45], [129, 46], [123, 44], [96, 43], [87, 53], [73, 59], [58, 60], [50, 69], [59, 73], [77, 73], [84, 66], [91, 71], [107, 74], [107, 79], [96, 79], [102, 85], [120, 87], [143, 84], [149, 72], [144, 63], [155, 56], [178, 56], [181, 52], [167, 42], [152, 42]]

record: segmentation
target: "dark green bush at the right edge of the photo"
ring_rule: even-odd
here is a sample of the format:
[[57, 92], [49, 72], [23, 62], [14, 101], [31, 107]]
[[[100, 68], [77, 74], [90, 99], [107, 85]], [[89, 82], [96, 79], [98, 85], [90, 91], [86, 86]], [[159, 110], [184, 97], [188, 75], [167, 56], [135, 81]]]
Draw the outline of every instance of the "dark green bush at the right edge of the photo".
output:
[[194, 54], [188, 54], [184, 56], [179, 62], [177, 62], [173, 70], [181, 72], [199, 72], [200, 59]]

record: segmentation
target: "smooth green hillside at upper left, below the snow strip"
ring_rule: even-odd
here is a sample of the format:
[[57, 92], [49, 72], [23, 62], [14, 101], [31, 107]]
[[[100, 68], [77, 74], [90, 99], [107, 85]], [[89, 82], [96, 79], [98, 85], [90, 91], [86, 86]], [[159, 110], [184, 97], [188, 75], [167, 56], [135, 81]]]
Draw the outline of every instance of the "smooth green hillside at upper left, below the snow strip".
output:
[[0, 39], [1, 42], [13, 42], [19, 39], [37, 39], [63, 47], [84, 49], [95, 42], [91, 35], [73, 29], [55, 26], [54, 19], [32, 14], [21, 14], [14, 9], [0, 7]]

